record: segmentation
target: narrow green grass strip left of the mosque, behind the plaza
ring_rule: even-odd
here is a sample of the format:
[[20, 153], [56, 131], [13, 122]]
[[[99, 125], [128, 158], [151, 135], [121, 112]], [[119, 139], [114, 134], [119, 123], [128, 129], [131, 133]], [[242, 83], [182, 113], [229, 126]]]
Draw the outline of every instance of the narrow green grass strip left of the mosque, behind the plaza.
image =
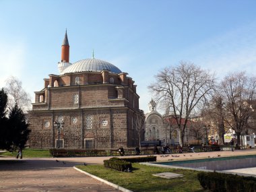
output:
[[[5, 153], [2, 153], [1, 155], [15, 157], [17, 154], [18, 152], [5, 152]], [[49, 158], [51, 157], [51, 154], [49, 150], [28, 148], [28, 149], [22, 150], [22, 156], [24, 158]]]

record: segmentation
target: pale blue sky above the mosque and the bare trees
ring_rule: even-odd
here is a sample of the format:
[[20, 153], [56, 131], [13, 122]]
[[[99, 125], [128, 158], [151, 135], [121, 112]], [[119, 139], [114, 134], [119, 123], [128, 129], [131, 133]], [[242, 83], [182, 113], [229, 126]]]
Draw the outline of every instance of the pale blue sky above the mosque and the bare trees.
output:
[[34, 102], [49, 74], [59, 74], [65, 28], [70, 62], [113, 63], [137, 84], [148, 112], [154, 75], [191, 61], [221, 78], [256, 71], [256, 1], [0, 0], [0, 88], [18, 77]]

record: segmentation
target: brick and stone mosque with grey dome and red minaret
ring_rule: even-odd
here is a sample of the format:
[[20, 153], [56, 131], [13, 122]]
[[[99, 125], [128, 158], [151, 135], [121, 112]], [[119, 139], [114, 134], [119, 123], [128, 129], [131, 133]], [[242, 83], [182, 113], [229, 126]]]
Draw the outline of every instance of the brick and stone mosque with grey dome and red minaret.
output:
[[[44, 79], [29, 112], [32, 148], [133, 148], [143, 140], [143, 110], [128, 73], [94, 58], [69, 63], [67, 31], [59, 74]], [[142, 121], [141, 121], [142, 120]], [[56, 126], [57, 125], [57, 126]]]

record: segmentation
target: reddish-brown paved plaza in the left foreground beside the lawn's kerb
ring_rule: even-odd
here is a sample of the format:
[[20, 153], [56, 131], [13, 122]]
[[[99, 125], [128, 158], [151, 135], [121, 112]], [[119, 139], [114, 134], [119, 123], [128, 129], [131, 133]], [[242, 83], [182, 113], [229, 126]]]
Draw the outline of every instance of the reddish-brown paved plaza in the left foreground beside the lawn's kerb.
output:
[[81, 162], [55, 159], [0, 160], [0, 191], [119, 191], [73, 169]]

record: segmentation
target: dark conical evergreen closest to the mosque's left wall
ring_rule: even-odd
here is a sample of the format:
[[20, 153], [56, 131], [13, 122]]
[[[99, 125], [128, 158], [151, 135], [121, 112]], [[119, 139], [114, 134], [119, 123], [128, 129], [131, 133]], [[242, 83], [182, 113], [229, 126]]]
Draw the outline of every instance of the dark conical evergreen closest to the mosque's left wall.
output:
[[29, 125], [26, 122], [22, 109], [18, 106], [18, 104], [15, 104], [9, 113], [7, 125], [7, 150], [15, 150], [16, 148], [20, 148], [22, 150], [25, 147], [31, 131], [28, 129], [28, 126]]

